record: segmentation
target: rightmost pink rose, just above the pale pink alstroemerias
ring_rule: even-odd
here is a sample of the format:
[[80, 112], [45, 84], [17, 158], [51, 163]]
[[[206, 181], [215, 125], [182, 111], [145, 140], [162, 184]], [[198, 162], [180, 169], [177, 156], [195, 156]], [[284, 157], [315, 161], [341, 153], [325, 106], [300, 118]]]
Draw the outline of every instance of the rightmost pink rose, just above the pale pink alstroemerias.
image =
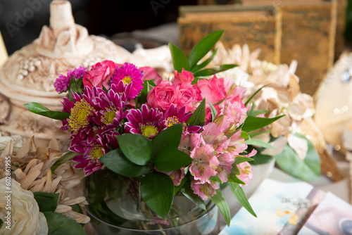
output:
[[210, 80], [200, 80], [196, 86], [201, 89], [201, 96], [206, 98], [206, 103], [216, 103], [227, 97], [224, 79], [215, 75]]

